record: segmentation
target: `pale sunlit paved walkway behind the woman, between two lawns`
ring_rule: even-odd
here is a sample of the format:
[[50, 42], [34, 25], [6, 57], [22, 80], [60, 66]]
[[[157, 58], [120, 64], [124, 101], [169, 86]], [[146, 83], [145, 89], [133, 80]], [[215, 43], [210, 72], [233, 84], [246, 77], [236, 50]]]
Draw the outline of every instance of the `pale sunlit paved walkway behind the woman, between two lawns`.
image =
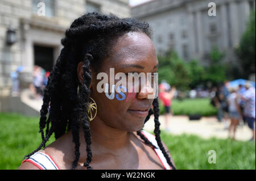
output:
[[[160, 129], [166, 129], [164, 116], [159, 117]], [[145, 124], [146, 131], [153, 131], [154, 116]], [[224, 129], [224, 123], [219, 123], [216, 117], [202, 117], [200, 120], [189, 120], [188, 116], [172, 116], [168, 122], [168, 129], [172, 134], [196, 134], [203, 138], [217, 137], [228, 138], [228, 129]], [[247, 141], [251, 138], [251, 131], [247, 125], [238, 125], [236, 140]]]

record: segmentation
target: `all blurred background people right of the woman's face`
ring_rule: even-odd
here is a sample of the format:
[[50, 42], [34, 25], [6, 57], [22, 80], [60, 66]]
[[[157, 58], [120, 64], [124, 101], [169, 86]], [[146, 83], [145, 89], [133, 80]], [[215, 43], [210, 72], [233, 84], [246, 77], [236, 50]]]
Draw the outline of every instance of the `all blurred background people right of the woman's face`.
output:
[[[201, 97], [199, 92], [212, 98], [211, 104], [218, 110], [217, 120], [219, 122], [224, 121], [224, 129], [228, 129], [230, 138], [236, 139], [239, 124], [247, 124], [252, 133], [250, 141], [255, 141], [255, 87], [251, 85], [250, 81], [237, 87], [230, 86], [229, 82], [224, 82], [224, 85], [213, 87], [208, 91], [191, 90], [188, 96], [189, 98]], [[178, 91], [175, 87], [171, 87], [166, 81], [159, 84], [159, 99], [164, 106], [166, 131], [170, 131], [168, 130], [168, 120], [171, 119], [172, 115], [172, 99], [177, 98], [177, 94]]]

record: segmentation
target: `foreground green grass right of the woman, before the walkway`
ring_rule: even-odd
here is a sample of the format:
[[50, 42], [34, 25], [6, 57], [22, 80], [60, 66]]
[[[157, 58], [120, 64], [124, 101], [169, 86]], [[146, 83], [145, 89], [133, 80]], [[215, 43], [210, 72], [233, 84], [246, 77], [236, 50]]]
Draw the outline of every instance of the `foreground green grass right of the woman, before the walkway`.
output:
[[[254, 169], [255, 142], [203, 139], [195, 135], [179, 136], [161, 132], [177, 169]], [[208, 163], [209, 150], [216, 151], [216, 163]]]

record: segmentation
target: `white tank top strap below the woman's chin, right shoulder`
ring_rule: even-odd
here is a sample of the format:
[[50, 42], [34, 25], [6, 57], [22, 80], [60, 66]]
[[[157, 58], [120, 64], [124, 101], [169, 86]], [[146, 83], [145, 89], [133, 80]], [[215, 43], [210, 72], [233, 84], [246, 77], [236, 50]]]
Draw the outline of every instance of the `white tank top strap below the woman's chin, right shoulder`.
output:
[[156, 149], [155, 153], [158, 155], [158, 158], [160, 159], [164, 169], [171, 170], [170, 165], [167, 163], [166, 157], [164, 157], [162, 151], [159, 149], [158, 142], [155, 140], [155, 135], [150, 134], [146, 131], [141, 132], [153, 145], [155, 145]]

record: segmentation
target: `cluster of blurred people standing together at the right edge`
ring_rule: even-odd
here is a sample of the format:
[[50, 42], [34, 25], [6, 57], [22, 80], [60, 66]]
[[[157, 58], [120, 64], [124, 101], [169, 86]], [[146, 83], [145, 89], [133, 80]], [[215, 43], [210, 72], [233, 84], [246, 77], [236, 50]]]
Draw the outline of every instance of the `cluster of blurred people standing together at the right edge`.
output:
[[250, 141], [255, 141], [255, 88], [249, 81], [238, 87], [229, 87], [229, 82], [218, 86], [212, 104], [218, 109], [218, 121], [224, 120], [229, 137], [235, 139], [237, 126], [242, 121], [251, 129]]

